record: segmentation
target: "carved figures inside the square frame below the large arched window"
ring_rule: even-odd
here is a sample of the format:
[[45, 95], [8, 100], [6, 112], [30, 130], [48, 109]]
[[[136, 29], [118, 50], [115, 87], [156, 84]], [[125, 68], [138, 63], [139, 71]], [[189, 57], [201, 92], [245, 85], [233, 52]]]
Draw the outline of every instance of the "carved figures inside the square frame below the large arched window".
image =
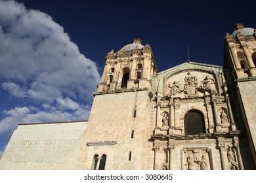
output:
[[[187, 170], [207, 170], [209, 160], [207, 159], [207, 152], [205, 150], [186, 150], [186, 169]], [[207, 156], [206, 156], [207, 155]]]

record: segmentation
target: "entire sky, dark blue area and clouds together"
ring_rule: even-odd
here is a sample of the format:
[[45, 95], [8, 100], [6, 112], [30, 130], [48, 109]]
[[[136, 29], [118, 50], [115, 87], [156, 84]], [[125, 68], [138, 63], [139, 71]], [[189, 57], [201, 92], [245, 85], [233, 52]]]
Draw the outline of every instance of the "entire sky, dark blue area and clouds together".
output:
[[18, 124], [87, 120], [110, 50], [150, 44], [158, 71], [223, 65], [236, 23], [255, 28], [255, 1], [0, 0], [0, 157]]

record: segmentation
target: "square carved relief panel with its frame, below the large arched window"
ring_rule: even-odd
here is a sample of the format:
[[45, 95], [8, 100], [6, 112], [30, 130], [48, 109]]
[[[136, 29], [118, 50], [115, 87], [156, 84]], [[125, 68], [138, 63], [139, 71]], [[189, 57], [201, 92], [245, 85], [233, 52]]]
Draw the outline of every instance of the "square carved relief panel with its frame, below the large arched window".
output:
[[213, 159], [209, 148], [183, 148], [182, 170], [213, 170]]

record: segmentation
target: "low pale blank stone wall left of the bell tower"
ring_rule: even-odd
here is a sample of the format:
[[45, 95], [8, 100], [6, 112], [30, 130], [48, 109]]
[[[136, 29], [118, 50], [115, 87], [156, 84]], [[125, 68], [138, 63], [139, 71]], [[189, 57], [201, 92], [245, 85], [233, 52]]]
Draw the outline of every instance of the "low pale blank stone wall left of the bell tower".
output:
[[79, 137], [87, 122], [18, 125], [0, 169], [75, 169]]

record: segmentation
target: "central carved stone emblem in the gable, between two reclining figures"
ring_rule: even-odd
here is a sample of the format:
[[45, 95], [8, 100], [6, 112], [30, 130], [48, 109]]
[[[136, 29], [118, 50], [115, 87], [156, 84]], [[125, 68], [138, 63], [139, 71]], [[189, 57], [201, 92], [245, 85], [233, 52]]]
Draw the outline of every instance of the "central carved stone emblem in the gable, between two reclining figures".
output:
[[184, 94], [185, 97], [197, 97], [198, 96], [198, 78], [193, 76], [190, 71], [186, 74], [184, 78]]

